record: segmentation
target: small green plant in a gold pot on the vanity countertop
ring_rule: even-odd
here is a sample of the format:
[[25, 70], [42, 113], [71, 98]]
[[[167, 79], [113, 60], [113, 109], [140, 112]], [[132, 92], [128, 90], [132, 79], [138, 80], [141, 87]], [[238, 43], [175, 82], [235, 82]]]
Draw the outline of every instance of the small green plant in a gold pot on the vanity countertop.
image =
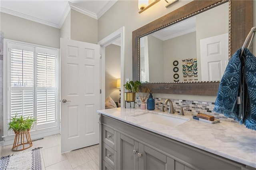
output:
[[136, 92], [138, 93], [138, 88], [140, 87], [140, 81], [127, 81], [124, 84], [124, 88], [128, 91], [124, 93], [125, 101], [135, 101]]

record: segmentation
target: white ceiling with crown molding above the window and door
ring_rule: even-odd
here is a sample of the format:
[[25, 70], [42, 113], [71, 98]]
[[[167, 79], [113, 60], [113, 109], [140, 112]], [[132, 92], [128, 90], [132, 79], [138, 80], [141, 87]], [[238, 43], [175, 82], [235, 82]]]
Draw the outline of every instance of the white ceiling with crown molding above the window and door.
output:
[[117, 0], [0, 0], [0, 11], [61, 28], [70, 9], [100, 18]]

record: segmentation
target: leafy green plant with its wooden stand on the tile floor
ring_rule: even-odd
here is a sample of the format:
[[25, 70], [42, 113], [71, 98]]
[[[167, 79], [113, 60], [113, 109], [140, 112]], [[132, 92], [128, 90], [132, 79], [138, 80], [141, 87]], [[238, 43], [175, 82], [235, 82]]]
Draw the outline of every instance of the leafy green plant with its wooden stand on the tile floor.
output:
[[8, 130], [13, 130], [15, 133], [12, 150], [24, 150], [32, 146], [29, 131], [33, 128], [34, 123], [36, 123], [35, 118], [24, 118], [17, 114], [10, 119], [10, 122], [8, 123]]

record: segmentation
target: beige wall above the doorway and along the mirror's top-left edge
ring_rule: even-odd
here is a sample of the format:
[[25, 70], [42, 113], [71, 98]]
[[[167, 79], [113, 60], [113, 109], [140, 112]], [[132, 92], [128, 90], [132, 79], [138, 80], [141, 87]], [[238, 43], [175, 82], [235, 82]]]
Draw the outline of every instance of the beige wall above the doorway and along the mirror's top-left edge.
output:
[[103, 16], [98, 19], [98, 41], [124, 26], [124, 63], [125, 78], [132, 80], [132, 31], [168, 14], [191, 2], [182, 0], [165, 8], [166, 2], [160, 1], [148, 10], [138, 13], [137, 0], [118, 0]]

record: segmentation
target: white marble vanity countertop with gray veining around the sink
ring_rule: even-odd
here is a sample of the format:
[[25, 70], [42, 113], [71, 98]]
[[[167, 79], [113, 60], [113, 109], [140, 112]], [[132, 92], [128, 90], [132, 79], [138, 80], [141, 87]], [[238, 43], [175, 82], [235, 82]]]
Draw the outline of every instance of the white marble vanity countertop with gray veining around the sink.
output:
[[[114, 108], [100, 110], [98, 113], [129, 123], [162, 136], [223, 156], [241, 164], [256, 168], [256, 131], [238, 123], [220, 121], [210, 124], [197, 121], [190, 115], [174, 117], [189, 118], [181, 125], [170, 127], [151, 121], [139, 119], [136, 115], [157, 111], [148, 111], [134, 108]], [[159, 112], [158, 112], [159, 113]], [[167, 115], [165, 113], [159, 113]]]

